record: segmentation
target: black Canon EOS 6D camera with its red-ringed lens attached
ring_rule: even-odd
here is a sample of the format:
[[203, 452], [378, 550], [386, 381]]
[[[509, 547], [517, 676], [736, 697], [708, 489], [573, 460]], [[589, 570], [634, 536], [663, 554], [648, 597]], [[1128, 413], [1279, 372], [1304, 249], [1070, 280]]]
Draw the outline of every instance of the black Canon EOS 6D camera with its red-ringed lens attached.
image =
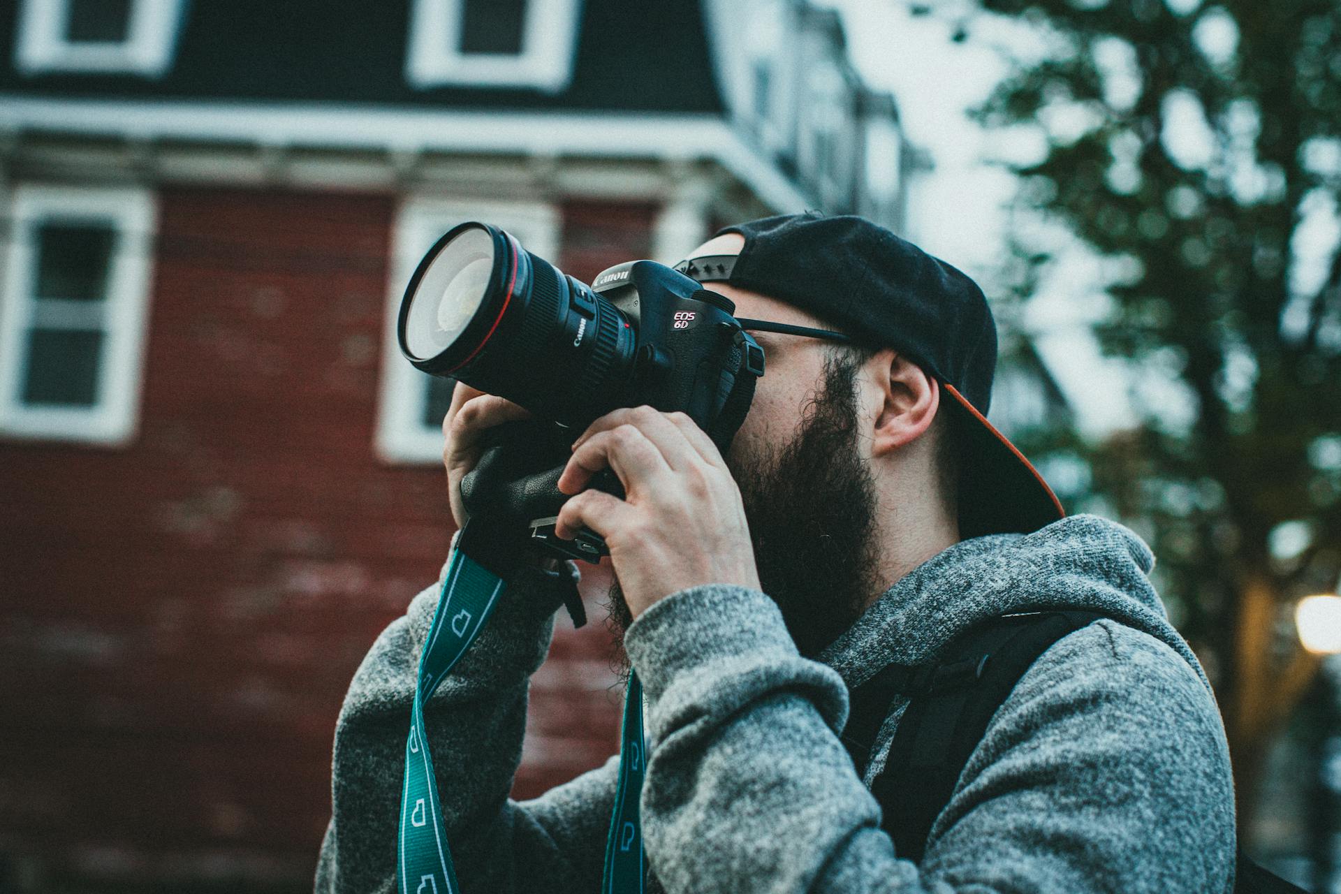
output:
[[[554, 517], [571, 442], [610, 410], [684, 411], [725, 453], [764, 369], [734, 314], [725, 296], [656, 261], [618, 264], [587, 285], [487, 224], [461, 224], [429, 249], [401, 302], [401, 351], [534, 416], [491, 430], [461, 483], [500, 560], [519, 539], [590, 562], [606, 552], [591, 532], [559, 540]], [[609, 470], [591, 487], [622, 496]]]

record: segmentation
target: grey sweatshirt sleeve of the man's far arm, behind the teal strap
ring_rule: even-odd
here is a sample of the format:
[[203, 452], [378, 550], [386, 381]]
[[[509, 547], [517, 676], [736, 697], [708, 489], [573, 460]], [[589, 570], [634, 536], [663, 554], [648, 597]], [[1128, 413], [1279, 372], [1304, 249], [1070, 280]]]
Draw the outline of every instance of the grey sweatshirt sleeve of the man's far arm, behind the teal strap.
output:
[[[594, 891], [616, 764], [530, 802], [508, 797], [522, 757], [527, 685], [548, 650], [569, 586], [528, 568], [425, 705], [433, 769], [456, 877], [465, 894]], [[396, 846], [418, 659], [443, 580], [382, 631], [354, 674], [335, 725], [331, 820], [318, 894], [396, 890]]]

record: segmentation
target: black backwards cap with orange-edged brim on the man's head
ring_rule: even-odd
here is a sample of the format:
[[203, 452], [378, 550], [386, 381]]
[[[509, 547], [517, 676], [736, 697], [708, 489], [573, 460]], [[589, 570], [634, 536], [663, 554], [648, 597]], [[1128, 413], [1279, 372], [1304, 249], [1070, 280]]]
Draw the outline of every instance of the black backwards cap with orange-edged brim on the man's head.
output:
[[884, 227], [814, 212], [724, 227], [739, 255], [691, 257], [676, 269], [730, 283], [814, 314], [869, 347], [892, 347], [952, 399], [952, 430], [968, 440], [960, 477], [960, 535], [1027, 533], [1066, 513], [1014, 444], [987, 421], [996, 324], [983, 290]]

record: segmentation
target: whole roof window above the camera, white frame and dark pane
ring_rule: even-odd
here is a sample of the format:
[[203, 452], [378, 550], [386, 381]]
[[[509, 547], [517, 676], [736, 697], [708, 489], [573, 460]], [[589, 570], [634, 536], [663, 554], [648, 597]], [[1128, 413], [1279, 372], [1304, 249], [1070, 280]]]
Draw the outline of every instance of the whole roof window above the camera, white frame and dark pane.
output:
[[416, 87], [563, 90], [581, 0], [414, 0], [405, 76]]

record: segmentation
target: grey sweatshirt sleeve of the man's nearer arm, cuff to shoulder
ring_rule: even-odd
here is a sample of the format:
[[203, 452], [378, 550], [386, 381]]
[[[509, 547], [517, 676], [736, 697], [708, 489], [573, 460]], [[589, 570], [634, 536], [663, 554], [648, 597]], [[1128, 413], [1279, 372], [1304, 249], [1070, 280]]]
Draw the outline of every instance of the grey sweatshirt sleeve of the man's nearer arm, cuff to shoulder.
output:
[[1230, 890], [1234, 802], [1214, 698], [1172, 649], [1100, 622], [1026, 673], [921, 865], [900, 859], [837, 732], [846, 689], [764, 594], [684, 590], [625, 646], [653, 749], [648, 858], [666, 891]]

